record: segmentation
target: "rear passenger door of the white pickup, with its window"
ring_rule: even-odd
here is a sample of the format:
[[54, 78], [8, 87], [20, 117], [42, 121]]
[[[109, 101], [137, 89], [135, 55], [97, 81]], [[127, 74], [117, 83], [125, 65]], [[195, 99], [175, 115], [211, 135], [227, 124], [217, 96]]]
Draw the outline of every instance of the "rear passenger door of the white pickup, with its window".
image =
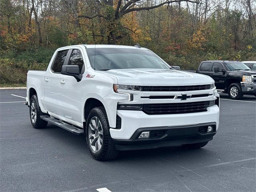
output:
[[68, 50], [58, 51], [49, 70], [44, 76], [44, 106], [48, 112], [60, 114], [59, 108], [59, 84], [61, 68], [66, 62]]

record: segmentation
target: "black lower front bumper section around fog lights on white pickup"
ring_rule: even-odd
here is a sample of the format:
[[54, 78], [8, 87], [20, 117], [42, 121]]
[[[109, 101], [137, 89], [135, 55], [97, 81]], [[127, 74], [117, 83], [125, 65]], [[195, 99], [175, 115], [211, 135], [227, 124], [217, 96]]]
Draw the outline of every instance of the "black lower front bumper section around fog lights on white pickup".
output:
[[[212, 132], [207, 132], [213, 126]], [[143, 131], [150, 131], [151, 138], [138, 138]], [[216, 134], [216, 123], [191, 126], [139, 128], [129, 140], [114, 139], [116, 150], [138, 150], [181, 144], [193, 144], [212, 140]]]

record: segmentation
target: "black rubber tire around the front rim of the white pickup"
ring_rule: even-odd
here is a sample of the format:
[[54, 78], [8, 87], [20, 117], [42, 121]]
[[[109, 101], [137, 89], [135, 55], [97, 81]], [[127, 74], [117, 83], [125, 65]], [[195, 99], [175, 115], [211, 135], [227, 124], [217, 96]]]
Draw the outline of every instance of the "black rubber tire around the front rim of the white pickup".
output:
[[[94, 146], [91, 146], [90, 140], [89, 140], [89, 125], [90, 125], [91, 120], [93, 118], [95, 119], [95, 117], [98, 118], [98, 120], [100, 120], [100, 124], [102, 127], [102, 133], [103, 133], [102, 134], [102, 145], [101, 145], [101, 147], [98, 147], [98, 148], [100, 148], [100, 150], [98, 150], [97, 152], [95, 151], [96, 148], [93, 149]], [[90, 111], [89, 116], [86, 120], [86, 144], [90, 151], [91, 156], [96, 160], [100, 160], [100, 161], [111, 160], [111, 159], [116, 158], [116, 156], [118, 155], [116, 146], [114, 145], [114, 142], [110, 136], [109, 129], [110, 129], [110, 127], [108, 124], [108, 118], [107, 118], [106, 110], [104, 109], [104, 107], [93, 108]], [[92, 131], [90, 131], [90, 132], [92, 132]], [[97, 133], [96, 133], [96, 136], [97, 136]], [[100, 137], [99, 133], [98, 133], [98, 137]], [[91, 142], [92, 142], [92, 140], [94, 140], [94, 137], [91, 138]]]

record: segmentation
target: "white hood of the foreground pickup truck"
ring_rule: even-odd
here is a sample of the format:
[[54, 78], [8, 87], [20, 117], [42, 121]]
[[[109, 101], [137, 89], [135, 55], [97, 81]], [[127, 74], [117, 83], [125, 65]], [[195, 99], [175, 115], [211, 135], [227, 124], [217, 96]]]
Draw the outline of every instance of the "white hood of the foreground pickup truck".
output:
[[206, 75], [169, 69], [116, 69], [103, 73], [115, 76], [118, 84], [128, 85], [202, 85], [214, 82]]

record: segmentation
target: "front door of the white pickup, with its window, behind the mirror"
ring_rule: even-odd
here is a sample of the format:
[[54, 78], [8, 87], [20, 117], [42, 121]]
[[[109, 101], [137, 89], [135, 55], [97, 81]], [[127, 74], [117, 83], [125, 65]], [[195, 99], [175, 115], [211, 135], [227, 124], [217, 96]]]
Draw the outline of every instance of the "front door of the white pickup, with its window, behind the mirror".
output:
[[[80, 74], [85, 72], [85, 61], [80, 48], [70, 50], [67, 65], [78, 65]], [[83, 81], [77, 82], [72, 76], [60, 75], [59, 83], [59, 108], [61, 116], [67, 122], [82, 126], [81, 106], [82, 106], [82, 86]]]

